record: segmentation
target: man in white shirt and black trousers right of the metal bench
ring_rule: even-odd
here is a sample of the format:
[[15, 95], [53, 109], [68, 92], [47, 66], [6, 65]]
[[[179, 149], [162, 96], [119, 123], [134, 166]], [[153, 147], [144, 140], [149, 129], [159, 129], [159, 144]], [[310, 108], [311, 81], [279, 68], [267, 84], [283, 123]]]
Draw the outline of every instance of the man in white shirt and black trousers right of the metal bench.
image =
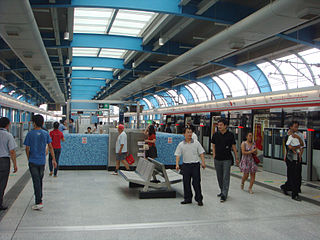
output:
[[179, 170], [180, 156], [183, 157], [183, 191], [184, 201], [181, 204], [192, 203], [191, 178], [192, 186], [195, 192], [195, 200], [199, 206], [203, 206], [203, 196], [201, 194], [201, 176], [200, 176], [200, 162], [201, 157], [202, 168], [206, 167], [204, 162], [204, 149], [197, 140], [192, 139], [192, 130], [190, 128], [184, 129], [185, 140], [180, 142], [174, 153], [176, 156], [176, 170]]

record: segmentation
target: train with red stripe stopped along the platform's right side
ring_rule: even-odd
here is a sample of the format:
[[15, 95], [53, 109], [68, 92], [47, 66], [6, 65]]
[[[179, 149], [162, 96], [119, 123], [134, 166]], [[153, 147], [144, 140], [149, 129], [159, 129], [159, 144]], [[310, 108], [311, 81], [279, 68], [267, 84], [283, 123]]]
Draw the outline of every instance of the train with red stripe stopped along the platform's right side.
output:
[[[306, 150], [303, 155], [302, 177], [305, 180], [320, 179], [320, 107], [319, 92], [296, 92], [262, 96], [259, 99], [239, 98], [215, 103], [197, 103], [163, 109], [150, 109], [141, 113], [141, 125], [152, 121], [159, 123], [160, 131], [169, 124], [172, 132], [180, 134], [187, 123], [195, 127], [199, 142], [207, 154], [211, 153], [211, 143], [217, 121], [226, 118], [229, 130], [235, 134], [238, 152], [246, 133], [252, 131], [258, 148], [258, 155], [266, 171], [285, 175], [283, 164], [285, 137], [291, 121], [299, 122], [299, 130], [304, 135]], [[227, 103], [226, 103], [227, 102]], [[220, 106], [219, 106], [220, 104]], [[214, 105], [214, 106], [213, 106]], [[136, 116], [125, 115], [134, 125]]]

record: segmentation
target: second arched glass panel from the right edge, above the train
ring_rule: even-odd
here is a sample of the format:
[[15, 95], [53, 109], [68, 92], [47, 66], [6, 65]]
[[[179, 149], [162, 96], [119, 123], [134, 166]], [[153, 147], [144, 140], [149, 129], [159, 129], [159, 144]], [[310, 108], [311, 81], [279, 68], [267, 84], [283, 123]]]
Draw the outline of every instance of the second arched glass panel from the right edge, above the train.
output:
[[313, 86], [310, 81], [310, 74], [306, 75], [305, 72], [300, 70], [304, 63], [296, 55], [278, 58], [272, 62], [280, 68], [286, 78], [289, 89]]

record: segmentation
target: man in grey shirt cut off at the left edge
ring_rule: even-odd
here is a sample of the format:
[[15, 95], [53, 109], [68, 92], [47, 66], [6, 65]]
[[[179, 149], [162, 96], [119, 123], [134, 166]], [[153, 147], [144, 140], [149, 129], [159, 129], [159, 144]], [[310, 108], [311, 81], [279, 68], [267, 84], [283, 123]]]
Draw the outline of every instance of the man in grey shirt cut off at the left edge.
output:
[[13, 163], [13, 172], [18, 171], [15, 151], [17, 144], [12, 134], [8, 132], [9, 126], [9, 118], [0, 118], [0, 211], [8, 208], [3, 205], [3, 195], [10, 173], [10, 157]]

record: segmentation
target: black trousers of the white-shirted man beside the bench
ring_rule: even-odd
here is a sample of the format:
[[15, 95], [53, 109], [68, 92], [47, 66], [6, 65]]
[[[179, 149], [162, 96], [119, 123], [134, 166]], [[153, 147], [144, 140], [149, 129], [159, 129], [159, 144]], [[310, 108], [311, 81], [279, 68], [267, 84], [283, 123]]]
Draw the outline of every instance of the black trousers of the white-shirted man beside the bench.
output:
[[195, 200], [201, 202], [203, 196], [201, 194], [201, 176], [200, 176], [200, 163], [184, 163], [183, 170], [183, 191], [184, 200], [187, 202], [192, 201], [191, 179], [192, 186], [195, 192]]

